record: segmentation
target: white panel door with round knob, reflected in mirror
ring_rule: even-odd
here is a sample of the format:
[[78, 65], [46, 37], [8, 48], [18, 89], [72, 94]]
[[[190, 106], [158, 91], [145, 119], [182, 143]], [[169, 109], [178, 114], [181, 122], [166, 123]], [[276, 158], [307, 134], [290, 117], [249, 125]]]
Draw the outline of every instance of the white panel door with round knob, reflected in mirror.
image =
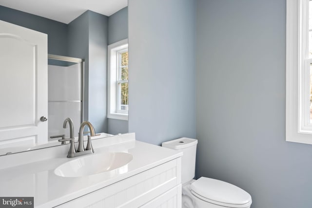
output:
[[0, 21], [0, 146], [48, 140], [47, 35]]

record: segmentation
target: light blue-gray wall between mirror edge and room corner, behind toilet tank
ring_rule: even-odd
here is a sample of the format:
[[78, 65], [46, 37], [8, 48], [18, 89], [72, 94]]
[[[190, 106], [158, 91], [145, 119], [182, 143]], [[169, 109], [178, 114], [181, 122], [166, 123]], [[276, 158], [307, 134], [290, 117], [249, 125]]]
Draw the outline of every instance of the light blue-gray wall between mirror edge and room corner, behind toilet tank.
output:
[[195, 1], [129, 0], [129, 132], [195, 137]]

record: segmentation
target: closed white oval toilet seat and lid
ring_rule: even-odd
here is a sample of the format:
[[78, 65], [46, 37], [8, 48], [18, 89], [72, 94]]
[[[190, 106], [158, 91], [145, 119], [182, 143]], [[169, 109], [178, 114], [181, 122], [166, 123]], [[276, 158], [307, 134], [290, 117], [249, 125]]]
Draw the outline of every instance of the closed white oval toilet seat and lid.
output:
[[252, 198], [245, 190], [212, 178], [197, 179], [191, 184], [191, 192], [201, 200], [224, 207], [246, 208], [252, 204]]

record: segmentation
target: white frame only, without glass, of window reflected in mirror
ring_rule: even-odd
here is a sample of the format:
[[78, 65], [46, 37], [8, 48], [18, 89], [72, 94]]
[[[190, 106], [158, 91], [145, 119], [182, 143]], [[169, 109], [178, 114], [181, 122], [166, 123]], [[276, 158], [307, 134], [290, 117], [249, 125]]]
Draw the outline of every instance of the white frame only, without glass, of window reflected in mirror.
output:
[[107, 99], [107, 117], [119, 120], [128, 120], [128, 111], [118, 110], [120, 103], [118, 91], [118, 52], [128, 49], [128, 39], [120, 40], [108, 45], [108, 99]]

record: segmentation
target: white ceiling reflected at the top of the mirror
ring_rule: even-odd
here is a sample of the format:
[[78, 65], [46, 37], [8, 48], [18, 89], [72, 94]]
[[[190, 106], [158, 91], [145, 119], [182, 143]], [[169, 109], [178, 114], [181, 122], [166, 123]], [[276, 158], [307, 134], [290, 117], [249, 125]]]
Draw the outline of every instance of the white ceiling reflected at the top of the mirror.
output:
[[87, 10], [111, 16], [128, 0], [0, 0], [0, 5], [68, 24]]

